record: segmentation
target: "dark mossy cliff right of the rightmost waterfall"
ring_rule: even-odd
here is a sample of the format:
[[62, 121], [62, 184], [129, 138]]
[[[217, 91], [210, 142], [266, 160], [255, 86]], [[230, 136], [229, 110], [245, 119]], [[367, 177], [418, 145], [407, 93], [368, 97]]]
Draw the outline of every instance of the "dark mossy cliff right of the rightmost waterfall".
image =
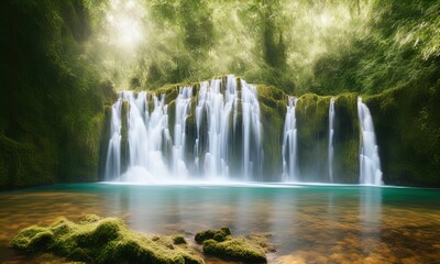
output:
[[440, 186], [439, 90], [424, 80], [365, 98], [385, 184]]

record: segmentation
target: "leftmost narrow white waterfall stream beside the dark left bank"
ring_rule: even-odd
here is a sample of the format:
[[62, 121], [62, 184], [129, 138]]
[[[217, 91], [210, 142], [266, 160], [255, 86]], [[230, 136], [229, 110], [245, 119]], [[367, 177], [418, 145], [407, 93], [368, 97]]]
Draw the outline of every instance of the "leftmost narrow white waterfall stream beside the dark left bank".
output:
[[119, 98], [111, 107], [110, 140], [106, 158], [106, 180], [119, 178], [121, 174], [121, 107], [122, 99]]

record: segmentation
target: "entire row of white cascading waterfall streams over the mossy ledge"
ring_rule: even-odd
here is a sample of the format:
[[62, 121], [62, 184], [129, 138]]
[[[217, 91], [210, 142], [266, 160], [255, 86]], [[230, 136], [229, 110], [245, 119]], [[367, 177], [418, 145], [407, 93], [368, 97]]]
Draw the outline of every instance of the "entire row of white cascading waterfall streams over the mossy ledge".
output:
[[[202, 81], [199, 87], [178, 88], [176, 98], [167, 98], [175, 102], [173, 139], [168, 131], [164, 95], [156, 97], [145, 91], [121, 91], [118, 96], [111, 108], [103, 179], [169, 183], [190, 178], [189, 175], [220, 182], [275, 179], [271, 175], [263, 175], [263, 124], [255, 86], [231, 75]], [[191, 107], [195, 99], [196, 106]], [[271, 107], [268, 102], [271, 100], [262, 101], [263, 113], [267, 114], [266, 108]], [[299, 174], [298, 155], [309, 154], [307, 150], [298, 151], [297, 102], [297, 98], [288, 97], [282, 144], [276, 144], [277, 139], [271, 138], [276, 146], [268, 150], [271, 156], [266, 161], [272, 166], [270, 169], [276, 170], [275, 175], [282, 170], [283, 182], [307, 180], [314, 176]], [[381, 185], [382, 170], [373, 121], [361, 98], [358, 99], [358, 113], [362, 130], [360, 183]], [[328, 158], [328, 168], [322, 167], [322, 177], [319, 179], [334, 183], [334, 98], [330, 100], [328, 114], [328, 155], [319, 152], [312, 152], [312, 155]], [[264, 118], [271, 121], [271, 116]], [[282, 129], [279, 127], [266, 128], [264, 132], [277, 136], [274, 133]], [[189, 145], [194, 145], [194, 160], [188, 156]], [[277, 166], [279, 160], [272, 156], [273, 151], [282, 154], [282, 166]], [[321, 161], [317, 162], [319, 166]]]

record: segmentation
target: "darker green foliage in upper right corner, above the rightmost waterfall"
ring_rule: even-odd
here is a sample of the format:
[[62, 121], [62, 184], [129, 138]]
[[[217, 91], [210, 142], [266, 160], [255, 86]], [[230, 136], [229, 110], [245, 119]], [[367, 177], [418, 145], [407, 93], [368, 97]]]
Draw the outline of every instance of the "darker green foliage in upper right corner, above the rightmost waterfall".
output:
[[374, 1], [370, 30], [318, 59], [311, 89], [373, 95], [431, 76], [439, 68], [439, 11], [437, 1]]

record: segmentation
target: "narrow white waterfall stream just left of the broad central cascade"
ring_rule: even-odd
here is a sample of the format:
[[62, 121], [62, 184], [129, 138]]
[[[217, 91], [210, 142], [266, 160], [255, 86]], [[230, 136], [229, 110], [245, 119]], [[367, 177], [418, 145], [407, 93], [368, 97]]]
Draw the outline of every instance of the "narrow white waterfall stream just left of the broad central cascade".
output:
[[191, 111], [193, 87], [180, 87], [176, 99], [176, 117], [174, 124], [173, 166], [174, 174], [187, 177], [185, 164], [186, 120]]

